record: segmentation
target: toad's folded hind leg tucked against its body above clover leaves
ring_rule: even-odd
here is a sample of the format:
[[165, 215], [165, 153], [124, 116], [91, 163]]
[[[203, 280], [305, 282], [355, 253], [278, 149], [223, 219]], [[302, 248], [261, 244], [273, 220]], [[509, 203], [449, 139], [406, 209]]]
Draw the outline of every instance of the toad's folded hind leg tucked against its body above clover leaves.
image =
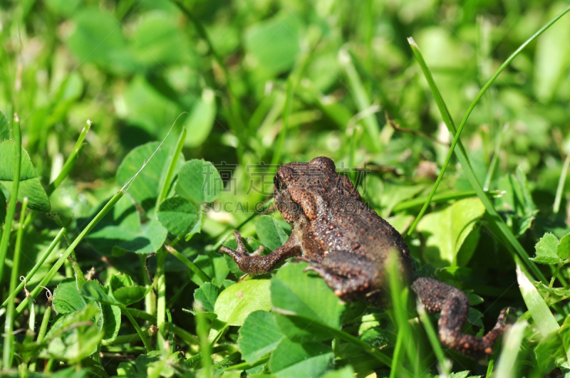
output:
[[378, 292], [381, 271], [370, 259], [352, 253], [331, 253], [321, 263], [311, 263], [306, 271], [315, 271], [342, 300], [356, 300]]

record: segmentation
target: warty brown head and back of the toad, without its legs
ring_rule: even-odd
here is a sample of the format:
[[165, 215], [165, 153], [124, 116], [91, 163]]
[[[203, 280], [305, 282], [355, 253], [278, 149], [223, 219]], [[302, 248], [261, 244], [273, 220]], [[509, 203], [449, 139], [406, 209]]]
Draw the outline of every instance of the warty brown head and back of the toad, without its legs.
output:
[[337, 174], [327, 161], [285, 164], [281, 170], [289, 179], [289, 191], [296, 187], [303, 192], [296, 202], [304, 209], [323, 258], [334, 255], [338, 266], [343, 259], [353, 265], [354, 258], [364, 258], [383, 271], [388, 252], [395, 249], [401, 276], [411, 278], [410, 251], [402, 236], [363, 203], [348, 177]]

